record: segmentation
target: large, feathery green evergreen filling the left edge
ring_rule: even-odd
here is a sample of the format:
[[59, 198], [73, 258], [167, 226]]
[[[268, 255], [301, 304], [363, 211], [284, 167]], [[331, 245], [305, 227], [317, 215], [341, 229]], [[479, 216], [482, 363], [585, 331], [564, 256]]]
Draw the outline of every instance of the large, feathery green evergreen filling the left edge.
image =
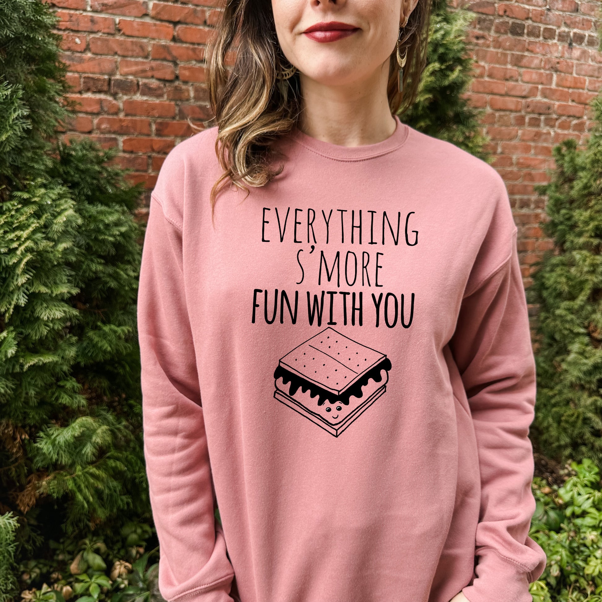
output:
[[52, 141], [56, 21], [40, 0], [0, 0], [0, 513], [19, 523], [17, 560], [149, 517], [140, 190], [92, 142]]

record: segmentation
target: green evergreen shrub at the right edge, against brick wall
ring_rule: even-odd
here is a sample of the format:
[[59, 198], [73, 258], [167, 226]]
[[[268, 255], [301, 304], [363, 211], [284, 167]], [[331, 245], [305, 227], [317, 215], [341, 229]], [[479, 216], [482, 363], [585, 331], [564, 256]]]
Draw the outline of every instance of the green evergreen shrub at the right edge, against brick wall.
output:
[[554, 249], [539, 262], [529, 300], [539, 303], [538, 397], [533, 427], [553, 458], [602, 460], [602, 99], [584, 149], [554, 149], [544, 233]]

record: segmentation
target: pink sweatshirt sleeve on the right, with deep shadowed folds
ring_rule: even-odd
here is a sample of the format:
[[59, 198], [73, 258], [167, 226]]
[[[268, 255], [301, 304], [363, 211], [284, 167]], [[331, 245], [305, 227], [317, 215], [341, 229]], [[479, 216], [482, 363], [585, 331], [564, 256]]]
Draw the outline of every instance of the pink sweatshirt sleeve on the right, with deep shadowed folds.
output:
[[495, 263], [491, 252], [478, 259], [450, 341], [473, 417], [480, 466], [478, 563], [473, 582], [462, 589], [470, 602], [532, 602], [529, 583], [541, 576], [546, 563], [544, 550], [528, 535], [535, 512], [528, 436], [535, 359], [509, 204], [502, 213], [503, 227], [492, 226], [498, 242], [483, 245], [497, 246]]

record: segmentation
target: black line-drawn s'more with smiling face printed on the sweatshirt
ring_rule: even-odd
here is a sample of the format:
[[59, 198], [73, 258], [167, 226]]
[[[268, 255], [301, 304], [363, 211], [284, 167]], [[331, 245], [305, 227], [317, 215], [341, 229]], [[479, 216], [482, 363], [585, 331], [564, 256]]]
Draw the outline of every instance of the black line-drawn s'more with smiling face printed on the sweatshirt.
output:
[[280, 359], [274, 397], [338, 437], [383, 393], [391, 361], [327, 328]]

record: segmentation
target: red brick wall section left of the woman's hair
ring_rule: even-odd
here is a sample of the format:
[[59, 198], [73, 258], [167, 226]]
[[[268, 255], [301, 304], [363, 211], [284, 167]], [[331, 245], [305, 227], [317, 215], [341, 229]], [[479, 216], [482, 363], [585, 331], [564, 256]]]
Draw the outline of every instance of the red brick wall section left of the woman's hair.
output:
[[119, 147], [152, 188], [165, 155], [210, 117], [202, 61], [218, 1], [51, 0], [79, 103], [67, 135]]

